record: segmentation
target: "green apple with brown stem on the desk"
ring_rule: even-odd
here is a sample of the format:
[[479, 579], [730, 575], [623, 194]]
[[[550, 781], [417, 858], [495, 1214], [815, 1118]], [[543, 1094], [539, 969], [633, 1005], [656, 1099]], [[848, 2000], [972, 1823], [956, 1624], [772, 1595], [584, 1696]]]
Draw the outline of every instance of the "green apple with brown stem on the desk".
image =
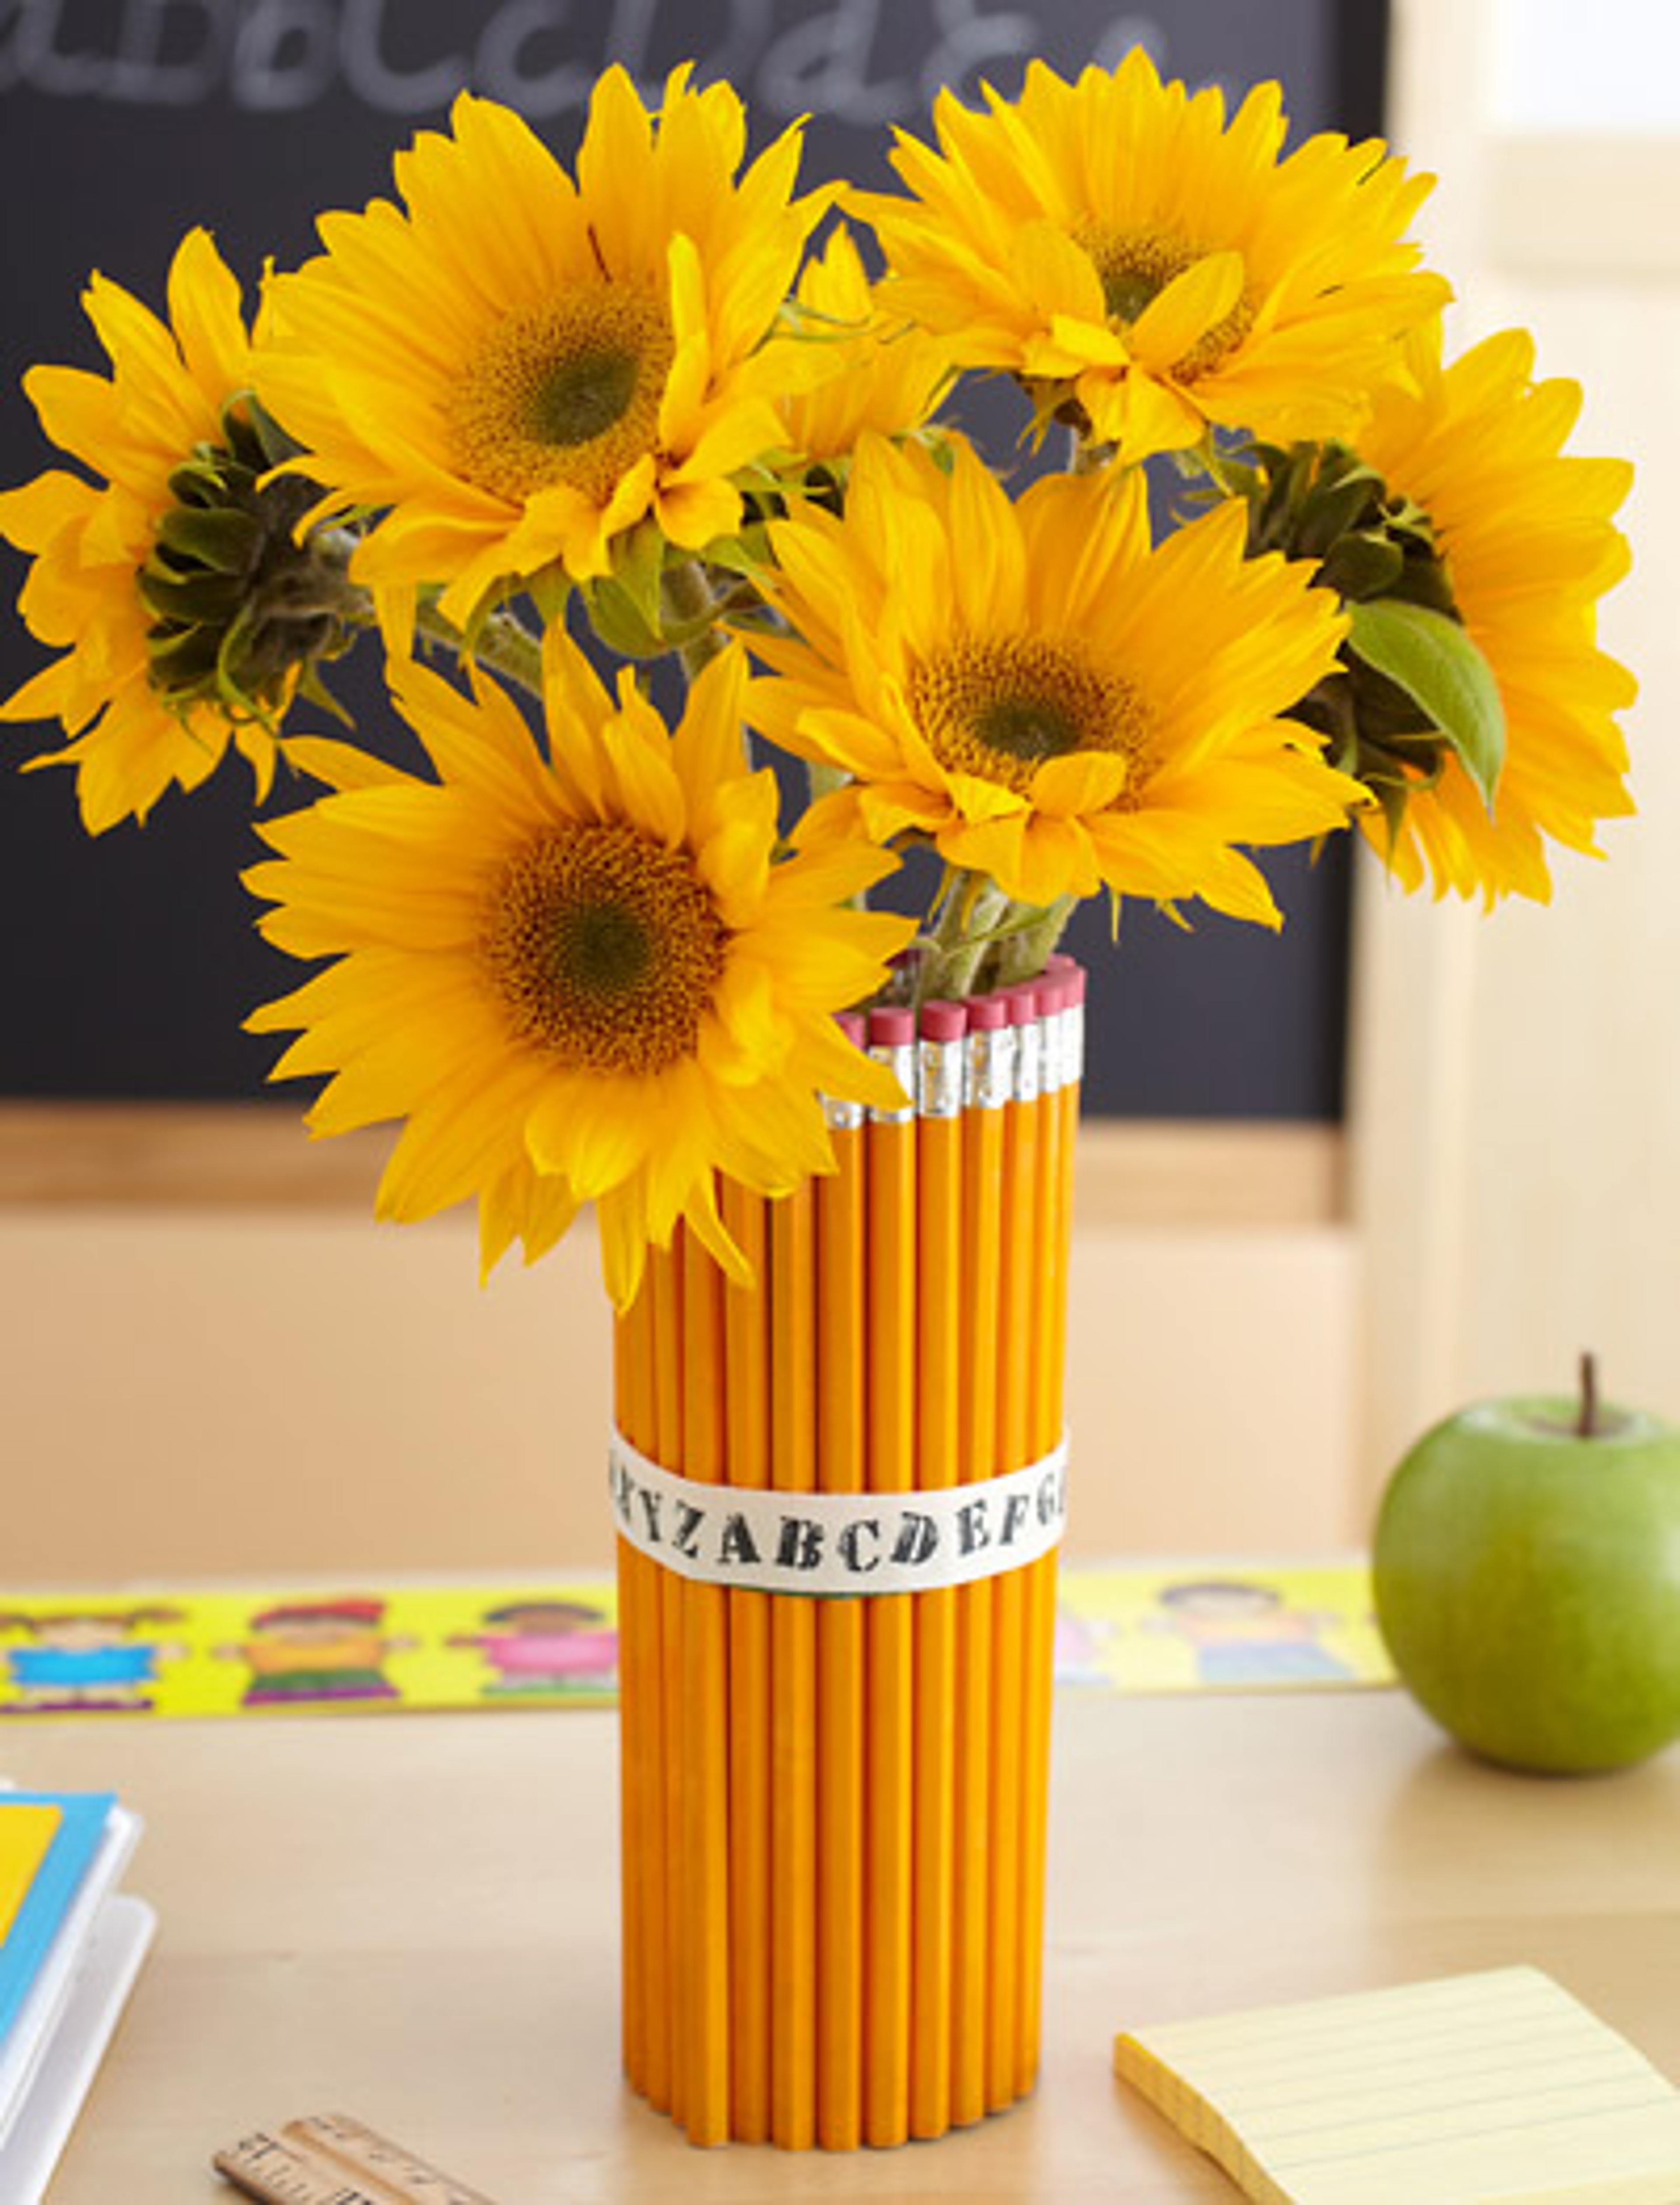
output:
[[1389, 1480], [1376, 1614], [1404, 1685], [1508, 1768], [1625, 1768], [1680, 1738], [1680, 1431], [1493, 1400]]

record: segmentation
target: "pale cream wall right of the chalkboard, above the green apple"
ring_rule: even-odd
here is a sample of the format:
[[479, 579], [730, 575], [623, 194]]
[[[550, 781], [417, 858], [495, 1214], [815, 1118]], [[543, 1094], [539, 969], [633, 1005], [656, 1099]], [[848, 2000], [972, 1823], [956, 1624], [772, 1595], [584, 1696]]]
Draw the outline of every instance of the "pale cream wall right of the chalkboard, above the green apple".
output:
[[[1627, 66], [1656, 66], [1636, 31], [1671, 40], [1669, 0], [1614, 13]], [[1508, 0], [1506, 35], [1539, 26]], [[1396, 29], [1393, 132], [1442, 179], [1422, 227], [1462, 295], [1455, 342], [1530, 326], [1541, 373], [1585, 384], [1572, 448], [1638, 463], [1634, 578], [1601, 633], [1643, 684], [1640, 818], [1605, 829], [1607, 864], [1561, 858], [1546, 911], [1482, 919], [1363, 882], [1369, 1466], [1471, 1396], [1568, 1389], [1583, 1347], [1614, 1394], [1680, 1418], [1680, 135], [1512, 135], [1490, 0], [1398, 0]]]

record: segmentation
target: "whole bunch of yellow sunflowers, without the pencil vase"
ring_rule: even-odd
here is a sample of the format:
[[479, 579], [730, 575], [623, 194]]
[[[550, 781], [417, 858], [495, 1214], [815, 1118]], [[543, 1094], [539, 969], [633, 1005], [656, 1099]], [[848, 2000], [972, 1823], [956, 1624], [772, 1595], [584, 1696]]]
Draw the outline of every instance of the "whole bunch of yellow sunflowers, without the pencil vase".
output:
[[[575, 172], [463, 95], [254, 329], [203, 232], [168, 320], [93, 278], [110, 373], [26, 379], [84, 472], [0, 496], [62, 655], [0, 712], [62, 723], [29, 763], [93, 833], [229, 747], [324, 787], [247, 880], [326, 966], [254, 1025], [315, 1131], [401, 1120], [384, 1215], [476, 1200], [494, 1263], [593, 1202], [620, 1308], [679, 1219], [739, 1266], [717, 1173], [783, 1191], [820, 1096], [882, 1102], [836, 1012], [1030, 977], [1100, 893], [1277, 926], [1246, 849], [1349, 825], [1543, 897], [1629, 807], [1629, 470], [1563, 454], [1526, 335], [1442, 362], [1426, 179], [1283, 137], [1138, 51], [800, 194], [798, 128], [747, 163], [686, 68], [602, 77]], [[981, 459], [970, 377], [1067, 472]], [[300, 725], [370, 633], [421, 770]], [[924, 908], [864, 908], [911, 851]]]

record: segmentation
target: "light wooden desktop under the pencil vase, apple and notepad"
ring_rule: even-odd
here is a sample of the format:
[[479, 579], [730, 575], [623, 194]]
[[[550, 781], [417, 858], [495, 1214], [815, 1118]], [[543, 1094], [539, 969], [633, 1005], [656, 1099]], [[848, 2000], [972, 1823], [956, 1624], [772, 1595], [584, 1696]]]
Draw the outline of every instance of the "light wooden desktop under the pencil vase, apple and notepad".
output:
[[694, 2152], [617, 2070], [615, 1724], [600, 1711], [57, 1722], [29, 1784], [115, 1784], [161, 1910], [51, 2205], [231, 2201], [212, 2148], [353, 2112], [498, 2205], [1230, 2198], [1109, 2073], [1118, 2026], [1528, 1960], [1680, 2077], [1680, 1753], [1534, 1782], [1398, 1693], [1063, 1693], [1045, 2077], [941, 2143]]

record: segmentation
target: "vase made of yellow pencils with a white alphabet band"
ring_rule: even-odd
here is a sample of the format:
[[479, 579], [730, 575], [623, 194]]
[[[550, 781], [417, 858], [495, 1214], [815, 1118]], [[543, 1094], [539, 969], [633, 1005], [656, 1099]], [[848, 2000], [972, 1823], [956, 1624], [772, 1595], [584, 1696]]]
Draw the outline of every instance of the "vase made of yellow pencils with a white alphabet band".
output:
[[1036, 2079], [1080, 994], [873, 1012], [913, 1107], [620, 1319], [624, 2064], [694, 2143]]

